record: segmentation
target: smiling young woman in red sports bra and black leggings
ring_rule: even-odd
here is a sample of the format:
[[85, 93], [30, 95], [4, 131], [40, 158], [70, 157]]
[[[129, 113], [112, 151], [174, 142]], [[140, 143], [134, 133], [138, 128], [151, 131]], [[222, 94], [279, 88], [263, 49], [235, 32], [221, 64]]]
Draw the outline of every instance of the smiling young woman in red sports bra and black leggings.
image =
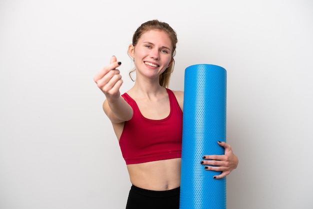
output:
[[[126, 208], [179, 208], [183, 91], [167, 88], [176, 43], [176, 32], [167, 23], [144, 22], [128, 46], [135, 65], [134, 85], [120, 94], [121, 62], [115, 56], [94, 76], [105, 94], [103, 110], [112, 122], [132, 183]], [[238, 164], [230, 145], [218, 144], [224, 155], [204, 155], [210, 160], [199, 161], [203, 169], [221, 171], [216, 179]]]

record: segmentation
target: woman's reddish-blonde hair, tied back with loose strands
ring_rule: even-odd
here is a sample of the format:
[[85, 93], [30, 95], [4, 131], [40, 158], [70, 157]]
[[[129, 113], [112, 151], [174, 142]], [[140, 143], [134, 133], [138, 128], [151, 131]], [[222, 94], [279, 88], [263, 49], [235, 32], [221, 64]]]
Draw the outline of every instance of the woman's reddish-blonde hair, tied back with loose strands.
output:
[[[164, 70], [164, 72], [162, 72], [162, 74], [160, 74], [160, 76], [159, 76], [159, 84], [163, 87], [168, 87], [169, 78], [170, 78], [171, 73], [174, 70], [174, 64], [175, 64], [175, 61], [173, 58], [176, 54], [176, 43], [177, 43], [177, 35], [176, 35], [175, 30], [173, 30], [173, 28], [171, 28], [171, 26], [169, 26], [168, 23], [161, 22], [157, 19], [146, 21], [146, 22], [142, 23], [136, 29], [136, 31], [133, 33], [132, 45], [135, 46], [138, 42], [138, 39], [141, 37], [141, 35], [144, 32], [152, 30], [152, 29], [158, 29], [158, 30], [165, 31], [168, 34], [168, 37], [171, 41], [171, 45], [172, 45], [171, 60], [172, 61], [171, 61], [170, 65]], [[131, 73], [135, 70], [136, 69], [133, 69], [129, 72], [129, 76], [130, 76], [131, 80], [133, 80], [131, 77]]]

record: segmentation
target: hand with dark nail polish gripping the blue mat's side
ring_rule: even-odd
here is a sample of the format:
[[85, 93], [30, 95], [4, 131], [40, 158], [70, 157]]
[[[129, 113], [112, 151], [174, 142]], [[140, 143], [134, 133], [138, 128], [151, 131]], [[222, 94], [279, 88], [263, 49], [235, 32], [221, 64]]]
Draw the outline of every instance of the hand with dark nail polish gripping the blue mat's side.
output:
[[238, 165], [238, 158], [232, 152], [230, 145], [220, 141], [217, 141], [217, 143], [218, 145], [224, 147], [224, 154], [203, 155], [203, 160], [200, 162], [202, 165], [205, 165], [204, 169], [206, 170], [221, 171], [221, 174], [213, 176], [215, 179], [225, 177]]

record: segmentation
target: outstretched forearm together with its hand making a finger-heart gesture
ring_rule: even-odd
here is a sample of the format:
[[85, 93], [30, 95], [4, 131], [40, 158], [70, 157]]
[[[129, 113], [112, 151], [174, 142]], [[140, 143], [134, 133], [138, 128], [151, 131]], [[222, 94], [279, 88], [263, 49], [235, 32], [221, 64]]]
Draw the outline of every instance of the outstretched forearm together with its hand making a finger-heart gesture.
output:
[[112, 56], [110, 63], [103, 67], [93, 78], [94, 82], [105, 94], [103, 110], [113, 123], [119, 123], [131, 119], [132, 108], [120, 96], [119, 88], [123, 83], [119, 70], [116, 69], [120, 62]]

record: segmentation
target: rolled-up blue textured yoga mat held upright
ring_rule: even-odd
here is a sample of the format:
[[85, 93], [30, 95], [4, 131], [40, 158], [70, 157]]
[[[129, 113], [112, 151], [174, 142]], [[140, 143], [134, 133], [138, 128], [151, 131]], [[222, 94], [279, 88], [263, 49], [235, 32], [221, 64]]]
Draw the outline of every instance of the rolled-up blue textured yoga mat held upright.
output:
[[188, 66], [184, 74], [180, 209], [225, 209], [226, 177], [200, 164], [204, 154], [224, 154], [226, 70], [213, 64]]

